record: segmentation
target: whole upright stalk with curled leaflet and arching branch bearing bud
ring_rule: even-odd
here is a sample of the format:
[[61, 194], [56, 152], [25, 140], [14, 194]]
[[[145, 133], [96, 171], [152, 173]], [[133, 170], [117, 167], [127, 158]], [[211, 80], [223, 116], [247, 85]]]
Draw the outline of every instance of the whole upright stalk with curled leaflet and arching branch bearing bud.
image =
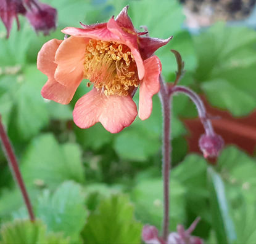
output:
[[[171, 50], [175, 54], [178, 65], [176, 78], [173, 83], [165, 83], [162, 76], [160, 82], [160, 101], [163, 112], [163, 143], [162, 143], [162, 176], [163, 176], [163, 241], [167, 242], [170, 224], [170, 171], [171, 171], [171, 99], [175, 93], [183, 93], [188, 96], [196, 105], [199, 118], [204, 126], [205, 134], [199, 140], [199, 146], [204, 153], [204, 157], [217, 157], [223, 148], [224, 141], [217, 135], [212, 127], [212, 122], [207, 116], [207, 112], [200, 96], [188, 87], [177, 85], [184, 74], [184, 61], [176, 50]], [[198, 221], [198, 220], [197, 220]], [[197, 221], [195, 222], [197, 224]], [[196, 224], [194, 226], [196, 226]], [[189, 228], [189, 230], [192, 229]], [[189, 233], [192, 231], [189, 231]]]

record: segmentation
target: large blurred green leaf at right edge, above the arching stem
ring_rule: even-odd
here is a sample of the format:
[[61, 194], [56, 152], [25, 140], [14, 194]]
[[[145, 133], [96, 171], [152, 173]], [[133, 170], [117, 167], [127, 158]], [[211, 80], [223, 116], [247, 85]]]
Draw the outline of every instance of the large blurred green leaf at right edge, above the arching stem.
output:
[[255, 31], [218, 23], [193, 39], [199, 60], [194, 81], [199, 83], [210, 103], [228, 109], [234, 116], [253, 111], [256, 105]]

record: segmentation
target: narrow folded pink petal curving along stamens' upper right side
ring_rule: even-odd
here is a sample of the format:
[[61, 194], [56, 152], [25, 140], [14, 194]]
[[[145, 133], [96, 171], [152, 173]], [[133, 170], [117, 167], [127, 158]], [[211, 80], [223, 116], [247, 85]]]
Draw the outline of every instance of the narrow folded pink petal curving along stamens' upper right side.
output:
[[145, 74], [145, 69], [141, 54], [139, 53], [137, 34], [130, 34], [123, 31], [117, 22], [115, 22], [114, 18], [110, 18], [109, 22], [107, 23], [107, 28], [112, 33], [120, 37], [120, 42], [127, 45], [131, 49], [131, 53], [133, 53], [133, 57], [137, 65], [139, 79], [142, 80]]

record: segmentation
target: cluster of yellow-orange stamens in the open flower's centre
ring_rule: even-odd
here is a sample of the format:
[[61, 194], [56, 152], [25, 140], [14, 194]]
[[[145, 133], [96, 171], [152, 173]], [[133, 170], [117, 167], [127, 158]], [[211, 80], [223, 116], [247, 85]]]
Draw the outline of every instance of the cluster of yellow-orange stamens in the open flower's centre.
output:
[[85, 51], [84, 77], [104, 95], [127, 96], [138, 87], [136, 63], [129, 47], [90, 39]]

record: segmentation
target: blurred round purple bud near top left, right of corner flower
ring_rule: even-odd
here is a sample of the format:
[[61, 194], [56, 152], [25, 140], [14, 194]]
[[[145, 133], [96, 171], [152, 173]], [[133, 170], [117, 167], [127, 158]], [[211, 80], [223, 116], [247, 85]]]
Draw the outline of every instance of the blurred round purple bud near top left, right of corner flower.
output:
[[57, 10], [47, 4], [38, 3], [31, 7], [26, 17], [36, 33], [42, 31], [44, 35], [47, 35], [50, 30], [56, 29]]

